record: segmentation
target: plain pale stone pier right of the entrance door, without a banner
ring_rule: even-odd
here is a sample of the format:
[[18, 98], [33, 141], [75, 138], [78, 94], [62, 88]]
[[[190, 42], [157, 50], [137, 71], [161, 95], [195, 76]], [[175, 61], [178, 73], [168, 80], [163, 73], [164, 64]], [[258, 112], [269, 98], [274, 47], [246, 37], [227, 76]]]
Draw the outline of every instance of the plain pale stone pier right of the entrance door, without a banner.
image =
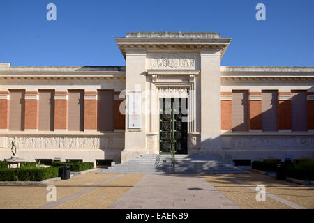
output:
[[201, 151], [221, 149], [220, 51], [201, 51]]

